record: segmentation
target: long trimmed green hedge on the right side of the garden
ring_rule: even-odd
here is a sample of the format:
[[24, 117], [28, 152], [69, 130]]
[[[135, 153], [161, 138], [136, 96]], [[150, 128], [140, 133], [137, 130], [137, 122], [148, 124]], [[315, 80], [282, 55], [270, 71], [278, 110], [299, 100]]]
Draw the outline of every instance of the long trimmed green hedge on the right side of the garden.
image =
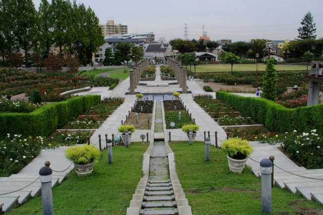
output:
[[318, 134], [323, 135], [323, 104], [291, 109], [264, 98], [242, 97], [222, 91], [217, 91], [217, 99], [264, 124], [271, 131], [306, 132], [316, 129]]

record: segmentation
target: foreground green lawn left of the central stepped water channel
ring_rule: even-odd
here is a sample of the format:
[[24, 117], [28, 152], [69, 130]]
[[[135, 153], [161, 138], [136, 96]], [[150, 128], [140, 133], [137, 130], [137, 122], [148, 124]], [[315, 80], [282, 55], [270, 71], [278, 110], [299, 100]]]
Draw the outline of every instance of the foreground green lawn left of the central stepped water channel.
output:
[[[108, 164], [104, 150], [89, 176], [78, 177], [73, 170], [52, 190], [54, 214], [126, 214], [141, 178], [142, 155], [147, 147], [141, 142], [129, 149], [114, 147], [113, 164]], [[42, 214], [41, 196], [6, 214]]]

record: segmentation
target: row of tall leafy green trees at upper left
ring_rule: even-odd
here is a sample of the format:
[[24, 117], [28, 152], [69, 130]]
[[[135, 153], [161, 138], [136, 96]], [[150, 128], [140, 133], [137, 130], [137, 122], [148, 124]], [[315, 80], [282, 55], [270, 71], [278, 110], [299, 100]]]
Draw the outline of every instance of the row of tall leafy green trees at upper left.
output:
[[81, 64], [104, 44], [94, 11], [76, 0], [41, 0], [36, 11], [32, 0], [0, 1], [0, 54], [5, 62], [12, 53], [24, 53], [26, 66], [32, 54], [45, 59], [53, 48], [59, 54], [76, 54]]

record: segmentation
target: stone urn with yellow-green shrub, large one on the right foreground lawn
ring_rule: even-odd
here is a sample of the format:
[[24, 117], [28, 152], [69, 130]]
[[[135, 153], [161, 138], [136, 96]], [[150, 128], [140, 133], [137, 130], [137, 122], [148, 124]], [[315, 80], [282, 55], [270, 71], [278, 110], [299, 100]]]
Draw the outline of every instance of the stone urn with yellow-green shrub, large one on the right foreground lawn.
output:
[[230, 138], [222, 142], [222, 149], [228, 153], [228, 164], [231, 172], [241, 174], [248, 155], [253, 151], [247, 140], [240, 138]]

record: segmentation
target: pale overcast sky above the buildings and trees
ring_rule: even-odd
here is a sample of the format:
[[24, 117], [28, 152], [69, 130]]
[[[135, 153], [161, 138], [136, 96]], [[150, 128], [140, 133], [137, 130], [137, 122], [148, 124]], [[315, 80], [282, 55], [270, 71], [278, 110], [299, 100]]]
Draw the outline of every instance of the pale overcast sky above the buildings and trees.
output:
[[[40, 0], [33, 0], [38, 10]], [[50, 1], [49, 1], [50, 2]], [[100, 23], [114, 20], [128, 25], [128, 33], [154, 32], [155, 40], [198, 39], [204, 31], [211, 40], [248, 41], [253, 38], [293, 40], [304, 15], [310, 11], [317, 39], [323, 37], [322, 0], [77, 0], [91, 7]]]

